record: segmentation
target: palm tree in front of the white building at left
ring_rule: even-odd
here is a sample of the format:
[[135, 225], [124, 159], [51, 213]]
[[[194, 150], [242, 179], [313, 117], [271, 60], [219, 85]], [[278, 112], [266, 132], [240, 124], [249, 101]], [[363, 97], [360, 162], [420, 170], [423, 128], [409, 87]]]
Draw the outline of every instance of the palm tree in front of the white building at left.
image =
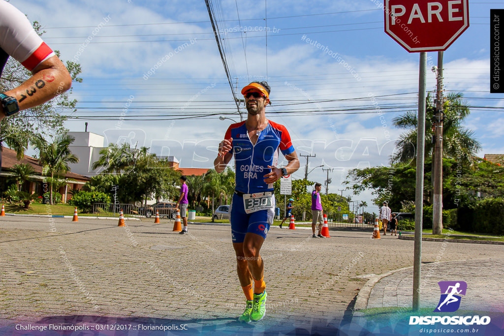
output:
[[70, 170], [69, 163], [79, 162], [79, 158], [69, 149], [74, 140], [75, 138], [68, 134], [61, 134], [57, 135], [51, 144], [42, 138], [37, 141], [36, 147], [40, 152], [39, 161], [43, 166], [42, 174], [48, 176], [50, 205], [53, 205], [53, 185], [58, 183], [60, 174]]

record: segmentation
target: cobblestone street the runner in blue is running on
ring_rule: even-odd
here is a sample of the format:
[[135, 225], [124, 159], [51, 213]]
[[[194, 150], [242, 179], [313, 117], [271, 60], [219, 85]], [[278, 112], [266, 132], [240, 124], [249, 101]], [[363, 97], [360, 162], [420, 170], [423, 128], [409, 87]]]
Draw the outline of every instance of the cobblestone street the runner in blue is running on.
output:
[[[50, 321], [334, 333], [367, 275], [413, 264], [413, 241], [370, 239], [371, 231], [314, 239], [309, 230], [272, 228], [261, 250], [267, 316], [242, 325], [235, 322], [244, 297], [228, 226], [190, 225], [190, 234], [179, 235], [167, 220], [127, 221], [128, 227], [79, 220], [0, 218], [0, 334], [11, 334], [16, 323]], [[423, 242], [423, 261], [434, 261], [439, 249]], [[499, 245], [449, 244], [442, 261], [501, 256]]]

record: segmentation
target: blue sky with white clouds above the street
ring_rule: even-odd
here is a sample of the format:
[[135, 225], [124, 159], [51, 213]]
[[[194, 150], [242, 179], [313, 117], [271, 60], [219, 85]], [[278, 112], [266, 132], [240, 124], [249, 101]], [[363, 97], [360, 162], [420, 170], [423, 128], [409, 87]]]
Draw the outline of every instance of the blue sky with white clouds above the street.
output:
[[[11, 3], [42, 24], [44, 40], [63, 59], [78, 57], [82, 65], [84, 82], [73, 89], [78, 110], [66, 124], [71, 131], [83, 131], [87, 121], [110, 142], [131, 135], [139, 146], [175, 155], [182, 167], [212, 167], [231, 122], [219, 116], [240, 117], [204, 1]], [[316, 154], [309, 170], [334, 168], [330, 192], [340, 193], [348, 169], [387, 164], [401, 132], [391, 120], [418, 102], [419, 54], [385, 34], [376, 3], [213, 2], [235, 92], [268, 80], [267, 116], [287, 126], [298, 154]], [[499, 7], [470, 1], [470, 27], [444, 57], [445, 89], [475, 106], [466, 126], [481, 142], [480, 156], [504, 153], [504, 115], [487, 108], [504, 105], [501, 94], [489, 94], [489, 10]], [[428, 57], [436, 64], [437, 53]], [[368, 113], [347, 113], [355, 111]], [[324, 182], [326, 174], [315, 168], [309, 179]], [[294, 174], [303, 176], [303, 168]], [[371, 204], [369, 192], [354, 199]]]

